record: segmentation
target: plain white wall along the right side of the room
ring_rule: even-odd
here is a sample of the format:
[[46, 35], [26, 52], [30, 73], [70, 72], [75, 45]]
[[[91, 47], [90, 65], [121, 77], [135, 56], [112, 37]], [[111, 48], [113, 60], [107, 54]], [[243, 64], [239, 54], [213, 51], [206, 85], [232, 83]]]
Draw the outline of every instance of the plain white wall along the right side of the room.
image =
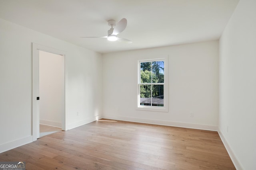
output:
[[255, 9], [240, 0], [220, 38], [219, 128], [238, 170], [256, 167]]

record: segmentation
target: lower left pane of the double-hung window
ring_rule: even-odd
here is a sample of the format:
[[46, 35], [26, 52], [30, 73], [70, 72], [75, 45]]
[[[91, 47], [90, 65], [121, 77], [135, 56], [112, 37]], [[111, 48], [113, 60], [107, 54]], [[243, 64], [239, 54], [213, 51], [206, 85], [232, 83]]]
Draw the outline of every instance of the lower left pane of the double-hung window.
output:
[[151, 85], [140, 85], [140, 105], [151, 106]]

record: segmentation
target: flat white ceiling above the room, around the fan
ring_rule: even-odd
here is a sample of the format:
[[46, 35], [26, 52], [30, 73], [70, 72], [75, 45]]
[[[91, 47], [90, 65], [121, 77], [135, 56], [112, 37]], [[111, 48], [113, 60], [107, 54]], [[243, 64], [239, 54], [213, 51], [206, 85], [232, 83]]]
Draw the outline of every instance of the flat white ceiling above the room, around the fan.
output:
[[[219, 39], [239, 0], [0, 0], [0, 18], [109, 53]], [[127, 19], [110, 42], [108, 20]]]

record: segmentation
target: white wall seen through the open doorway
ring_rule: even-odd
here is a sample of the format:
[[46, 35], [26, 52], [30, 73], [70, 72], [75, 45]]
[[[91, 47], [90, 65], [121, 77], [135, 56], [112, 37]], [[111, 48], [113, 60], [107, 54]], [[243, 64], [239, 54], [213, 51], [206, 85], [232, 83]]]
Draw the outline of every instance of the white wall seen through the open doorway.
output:
[[65, 58], [39, 51], [40, 124], [62, 127], [65, 116]]

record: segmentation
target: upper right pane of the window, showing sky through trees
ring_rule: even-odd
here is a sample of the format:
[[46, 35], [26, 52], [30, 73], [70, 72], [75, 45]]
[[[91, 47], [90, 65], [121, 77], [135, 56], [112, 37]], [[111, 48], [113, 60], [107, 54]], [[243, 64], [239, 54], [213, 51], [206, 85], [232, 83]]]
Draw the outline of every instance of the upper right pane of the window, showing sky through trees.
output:
[[152, 62], [152, 82], [164, 83], [164, 61]]

